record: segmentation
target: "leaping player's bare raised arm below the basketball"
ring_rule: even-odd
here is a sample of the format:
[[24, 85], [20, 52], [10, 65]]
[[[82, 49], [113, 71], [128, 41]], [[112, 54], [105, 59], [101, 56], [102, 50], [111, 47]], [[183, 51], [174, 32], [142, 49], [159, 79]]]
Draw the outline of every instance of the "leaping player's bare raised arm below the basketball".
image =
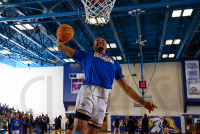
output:
[[57, 48], [58, 50], [64, 52], [65, 54], [67, 54], [69, 57], [72, 57], [75, 53], [75, 50], [68, 47], [68, 46], [65, 46], [62, 42], [58, 42], [57, 43]]

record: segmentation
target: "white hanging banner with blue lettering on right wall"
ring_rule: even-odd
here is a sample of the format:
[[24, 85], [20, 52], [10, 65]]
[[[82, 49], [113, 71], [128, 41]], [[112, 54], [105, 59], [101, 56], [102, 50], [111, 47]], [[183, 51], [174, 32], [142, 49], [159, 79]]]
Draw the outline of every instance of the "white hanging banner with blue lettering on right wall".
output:
[[187, 98], [200, 98], [199, 61], [185, 61]]

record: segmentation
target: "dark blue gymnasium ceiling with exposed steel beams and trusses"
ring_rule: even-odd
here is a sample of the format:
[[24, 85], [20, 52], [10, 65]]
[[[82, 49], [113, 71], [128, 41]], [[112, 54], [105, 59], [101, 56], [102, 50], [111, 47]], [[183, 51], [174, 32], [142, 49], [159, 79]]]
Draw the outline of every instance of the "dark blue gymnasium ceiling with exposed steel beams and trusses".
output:
[[[184, 57], [200, 57], [200, 0], [116, 0], [111, 19], [104, 26], [86, 24], [81, 0], [2, 0], [0, 5], [0, 62], [13, 67], [62, 66], [69, 57], [50, 50], [56, 45], [56, 30], [61, 24], [73, 27], [74, 38], [65, 45], [92, 51], [94, 39], [102, 36], [111, 56], [120, 63], [174, 62]], [[193, 9], [184, 16], [185, 9]], [[180, 10], [180, 17], [172, 17]], [[132, 11], [132, 14], [131, 12]], [[40, 29], [20, 30], [30, 24]], [[147, 40], [142, 46], [136, 41]], [[174, 44], [180, 39], [179, 44]], [[171, 45], [166, 45], [171, 40]], [[178, 41], [178, 40], [177, 40]], [[169, 41], [170, 42], [170, 41]], [[134, 44], [132, 44], [134, 43]], [[142, 54], [141, 54], [142, 50]], [[175, 54], [163, 58], [163, 54]], [[26, 61], [26, 62], [24, 62]]]

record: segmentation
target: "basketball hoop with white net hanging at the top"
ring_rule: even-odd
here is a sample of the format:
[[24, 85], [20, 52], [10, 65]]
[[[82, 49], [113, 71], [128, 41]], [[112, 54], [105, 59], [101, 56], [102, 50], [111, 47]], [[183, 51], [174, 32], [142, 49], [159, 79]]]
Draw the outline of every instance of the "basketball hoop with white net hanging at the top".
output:
[[116, 0], [81, 0], [86, 14], [85, 22], [94, 25], [107, 24]]

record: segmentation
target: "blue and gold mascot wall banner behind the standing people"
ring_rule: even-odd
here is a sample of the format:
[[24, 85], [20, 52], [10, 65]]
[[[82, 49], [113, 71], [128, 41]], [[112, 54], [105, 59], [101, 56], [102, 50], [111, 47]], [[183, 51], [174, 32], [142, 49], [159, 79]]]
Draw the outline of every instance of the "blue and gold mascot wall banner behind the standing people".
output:
[[[142, 128], [142, 116], [136, 116], [138, 119], [138, 130], [141, 132]], [[116, 116], [111, 116], [111, 131], [114, 131]], [[134, 118], [134, 117], [133, 117]], [[151, 133], [162, 133], [164, 131], [163, 127], [163, 117], [159, 116], [149, 116], [149, 132]], [[125, 126], [123, 126], [125, 116], [119, 116], [120, 119], [120, 131], [125, 131]], [[169, 133], [181, 133], [181, 119], [179, 116], [167, 116], [166, 117], [169, 128]]]

